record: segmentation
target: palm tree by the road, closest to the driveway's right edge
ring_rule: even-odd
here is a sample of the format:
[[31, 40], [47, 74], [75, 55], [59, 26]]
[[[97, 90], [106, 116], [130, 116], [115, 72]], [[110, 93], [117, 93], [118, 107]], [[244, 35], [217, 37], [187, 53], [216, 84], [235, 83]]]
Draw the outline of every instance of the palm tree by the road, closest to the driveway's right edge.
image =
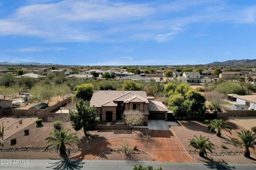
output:
[[212, 153], [212, 149], [214, 147], [214, 144], [209, 140], [209, 138], [203, 137], [202, 135], [196, 139], [191, 139], [189, 147], [192, 146], [195, 148], [195, 150], [199, 150], [199, 156], [203, 157], [204, 155], [207, 156], [206, 150], [209, 150]]

